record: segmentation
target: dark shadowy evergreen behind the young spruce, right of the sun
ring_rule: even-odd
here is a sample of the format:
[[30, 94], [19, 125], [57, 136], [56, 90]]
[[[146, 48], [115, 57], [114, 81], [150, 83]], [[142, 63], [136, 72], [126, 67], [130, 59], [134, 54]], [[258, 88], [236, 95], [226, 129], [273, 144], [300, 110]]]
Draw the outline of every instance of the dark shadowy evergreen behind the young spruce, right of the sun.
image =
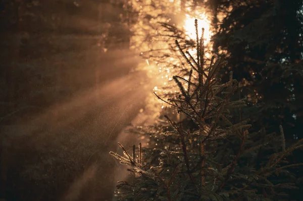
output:
[[242, 94], [256, 104], [258, 109], [247, 111], [254, 129], [278, 132], [282, 124], [286, 138], [300, 139], [303, 2], [221, 0], [207, 5], [218, 27], [214, 51], [225, 53], [229, 63], [221, 77], [227, 81], [227, 72], [233, 71]]

